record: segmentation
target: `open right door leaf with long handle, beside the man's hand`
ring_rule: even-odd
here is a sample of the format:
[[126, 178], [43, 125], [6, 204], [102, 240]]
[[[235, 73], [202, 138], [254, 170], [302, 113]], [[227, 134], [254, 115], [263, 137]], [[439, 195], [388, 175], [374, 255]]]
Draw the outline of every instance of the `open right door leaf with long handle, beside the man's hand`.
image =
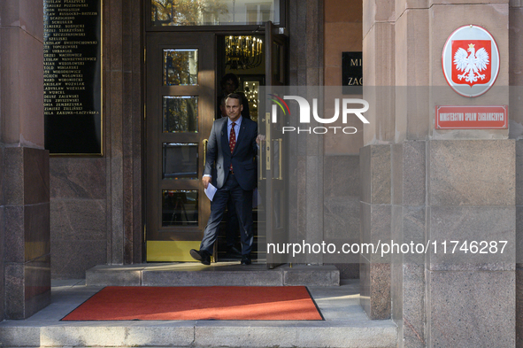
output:
[[[288, 243], [288, 149], [282, 133], [283, 115], [273, 123], [271, 112], [273, 93], [280, 86], [288, 84], [288, 40], [280, 34], [283, 28], [265, 23], [265, 117], [259, 122], [260, 133], [265, 134], [265, 146], [260, 149], [260, 187], [265, 203], [265, 234], [267, 244]], [[281, 96], [282, 97], [282, 96]], [[274, 111], [274, 112], [280, 112]], [[273, 268], [286, 260], [277, 254], [267, 253], [267, 267]]]

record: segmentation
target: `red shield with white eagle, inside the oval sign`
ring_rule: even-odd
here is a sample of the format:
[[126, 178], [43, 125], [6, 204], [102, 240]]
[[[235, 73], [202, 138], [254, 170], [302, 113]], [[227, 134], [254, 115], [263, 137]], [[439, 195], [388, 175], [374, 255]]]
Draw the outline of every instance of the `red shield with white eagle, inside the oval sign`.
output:
[[490, 40], [452, 41], [452, 81], [458, 84], [488, 83], [491, 79]]

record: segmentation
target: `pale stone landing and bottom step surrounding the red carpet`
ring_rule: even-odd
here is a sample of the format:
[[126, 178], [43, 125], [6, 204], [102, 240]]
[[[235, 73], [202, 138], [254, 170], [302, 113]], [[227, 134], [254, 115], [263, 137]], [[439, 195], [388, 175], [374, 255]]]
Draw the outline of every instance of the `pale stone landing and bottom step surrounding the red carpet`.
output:
[[370, 321], [359, 281], [309, 286], [325, 321], [60, 321], [103, 286], [53, 281], [51, 304], [0, 322], [2, 347], [396, 347], [393, 321]]

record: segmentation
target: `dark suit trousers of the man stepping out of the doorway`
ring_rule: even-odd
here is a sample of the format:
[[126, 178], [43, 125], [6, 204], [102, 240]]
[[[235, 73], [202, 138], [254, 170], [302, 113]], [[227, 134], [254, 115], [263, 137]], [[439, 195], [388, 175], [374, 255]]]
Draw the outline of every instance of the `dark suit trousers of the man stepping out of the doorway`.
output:
[[229, 197], [236, 208], [236, 216], [242, 237], [242, 255], [250, 254], [254, 240], [252, 233], [252, 190], [246, 191], [240, 187], [234, 174], [227, 175], [227, 182], [214, 194], [211, 202], [211, 217], [204, 231], [204, 239], [200, 250], [212, 254], [212, 245], [218, 236], [219, 223], [223, 219]]

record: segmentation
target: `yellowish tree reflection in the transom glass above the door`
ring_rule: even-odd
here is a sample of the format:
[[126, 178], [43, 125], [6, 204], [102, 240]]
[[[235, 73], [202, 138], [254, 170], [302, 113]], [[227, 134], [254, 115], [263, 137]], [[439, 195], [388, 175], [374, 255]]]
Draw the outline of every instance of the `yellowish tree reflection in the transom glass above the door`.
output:
[[155, 26], [214, 24], [228, 12], [223, 0], [151, 0], [150, 4]]

